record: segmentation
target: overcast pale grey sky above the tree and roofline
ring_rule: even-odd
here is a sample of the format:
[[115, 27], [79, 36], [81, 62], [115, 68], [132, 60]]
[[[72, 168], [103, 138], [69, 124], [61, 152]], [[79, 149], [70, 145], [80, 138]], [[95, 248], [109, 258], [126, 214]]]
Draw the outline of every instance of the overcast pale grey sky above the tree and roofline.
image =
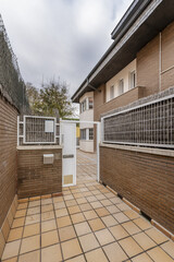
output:
[[25, 82], [60, 79], [70, 94], [107, 48], [132, 0], [0, 0], [0, 12]]

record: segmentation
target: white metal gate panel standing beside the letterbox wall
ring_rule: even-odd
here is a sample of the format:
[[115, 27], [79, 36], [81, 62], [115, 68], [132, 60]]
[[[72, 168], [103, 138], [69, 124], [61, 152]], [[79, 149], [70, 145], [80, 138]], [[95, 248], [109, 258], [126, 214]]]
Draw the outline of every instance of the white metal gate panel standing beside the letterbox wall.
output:
[[76, 184], [76, 123], [61, 121], [63, 187]]

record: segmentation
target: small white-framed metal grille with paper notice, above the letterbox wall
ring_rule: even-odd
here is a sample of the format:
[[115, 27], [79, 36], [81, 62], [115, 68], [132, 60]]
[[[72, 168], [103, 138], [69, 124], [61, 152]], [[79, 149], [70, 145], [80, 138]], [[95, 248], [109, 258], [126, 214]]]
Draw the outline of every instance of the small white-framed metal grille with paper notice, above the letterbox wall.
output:
[[18, 144], [58, 144], [59, 126], [57, 118], [24, 116], [18, 120]]

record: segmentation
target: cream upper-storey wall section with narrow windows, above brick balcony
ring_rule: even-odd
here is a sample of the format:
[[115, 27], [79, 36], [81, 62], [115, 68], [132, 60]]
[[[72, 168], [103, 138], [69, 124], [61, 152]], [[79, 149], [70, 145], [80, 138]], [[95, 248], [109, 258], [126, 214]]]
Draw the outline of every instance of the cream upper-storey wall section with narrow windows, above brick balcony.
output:
[[132, 86], [130, 74], [135, 72], [135, 86], [136, 86], [136, 59], [133, 60], [129, 64], [127, 64], [122, 71], [120, 71], [116, 75], [114, 75], [111, 80], [107, 82], [107, 102], [122, 95], [121, 91], [121, 81], [124, 85], [123, 93], [129, 91], [130, 88], [135, 87]]

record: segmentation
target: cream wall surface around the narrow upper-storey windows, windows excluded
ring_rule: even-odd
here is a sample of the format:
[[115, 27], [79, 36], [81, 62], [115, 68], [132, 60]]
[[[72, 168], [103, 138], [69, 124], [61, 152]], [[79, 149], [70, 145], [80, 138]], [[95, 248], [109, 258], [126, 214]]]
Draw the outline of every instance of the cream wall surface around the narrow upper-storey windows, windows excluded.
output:
[[107, 82], [107, 102], [111, 100], [110, 98], [110, 87], [114, 85], [114, 97], [119, 96], [119, 81], [124, 79], [124, 93], [129, 90], [129, 73], [136, 71], [136, 59], [133, 60], [127, 67], [114, 75], [111, 80]]

